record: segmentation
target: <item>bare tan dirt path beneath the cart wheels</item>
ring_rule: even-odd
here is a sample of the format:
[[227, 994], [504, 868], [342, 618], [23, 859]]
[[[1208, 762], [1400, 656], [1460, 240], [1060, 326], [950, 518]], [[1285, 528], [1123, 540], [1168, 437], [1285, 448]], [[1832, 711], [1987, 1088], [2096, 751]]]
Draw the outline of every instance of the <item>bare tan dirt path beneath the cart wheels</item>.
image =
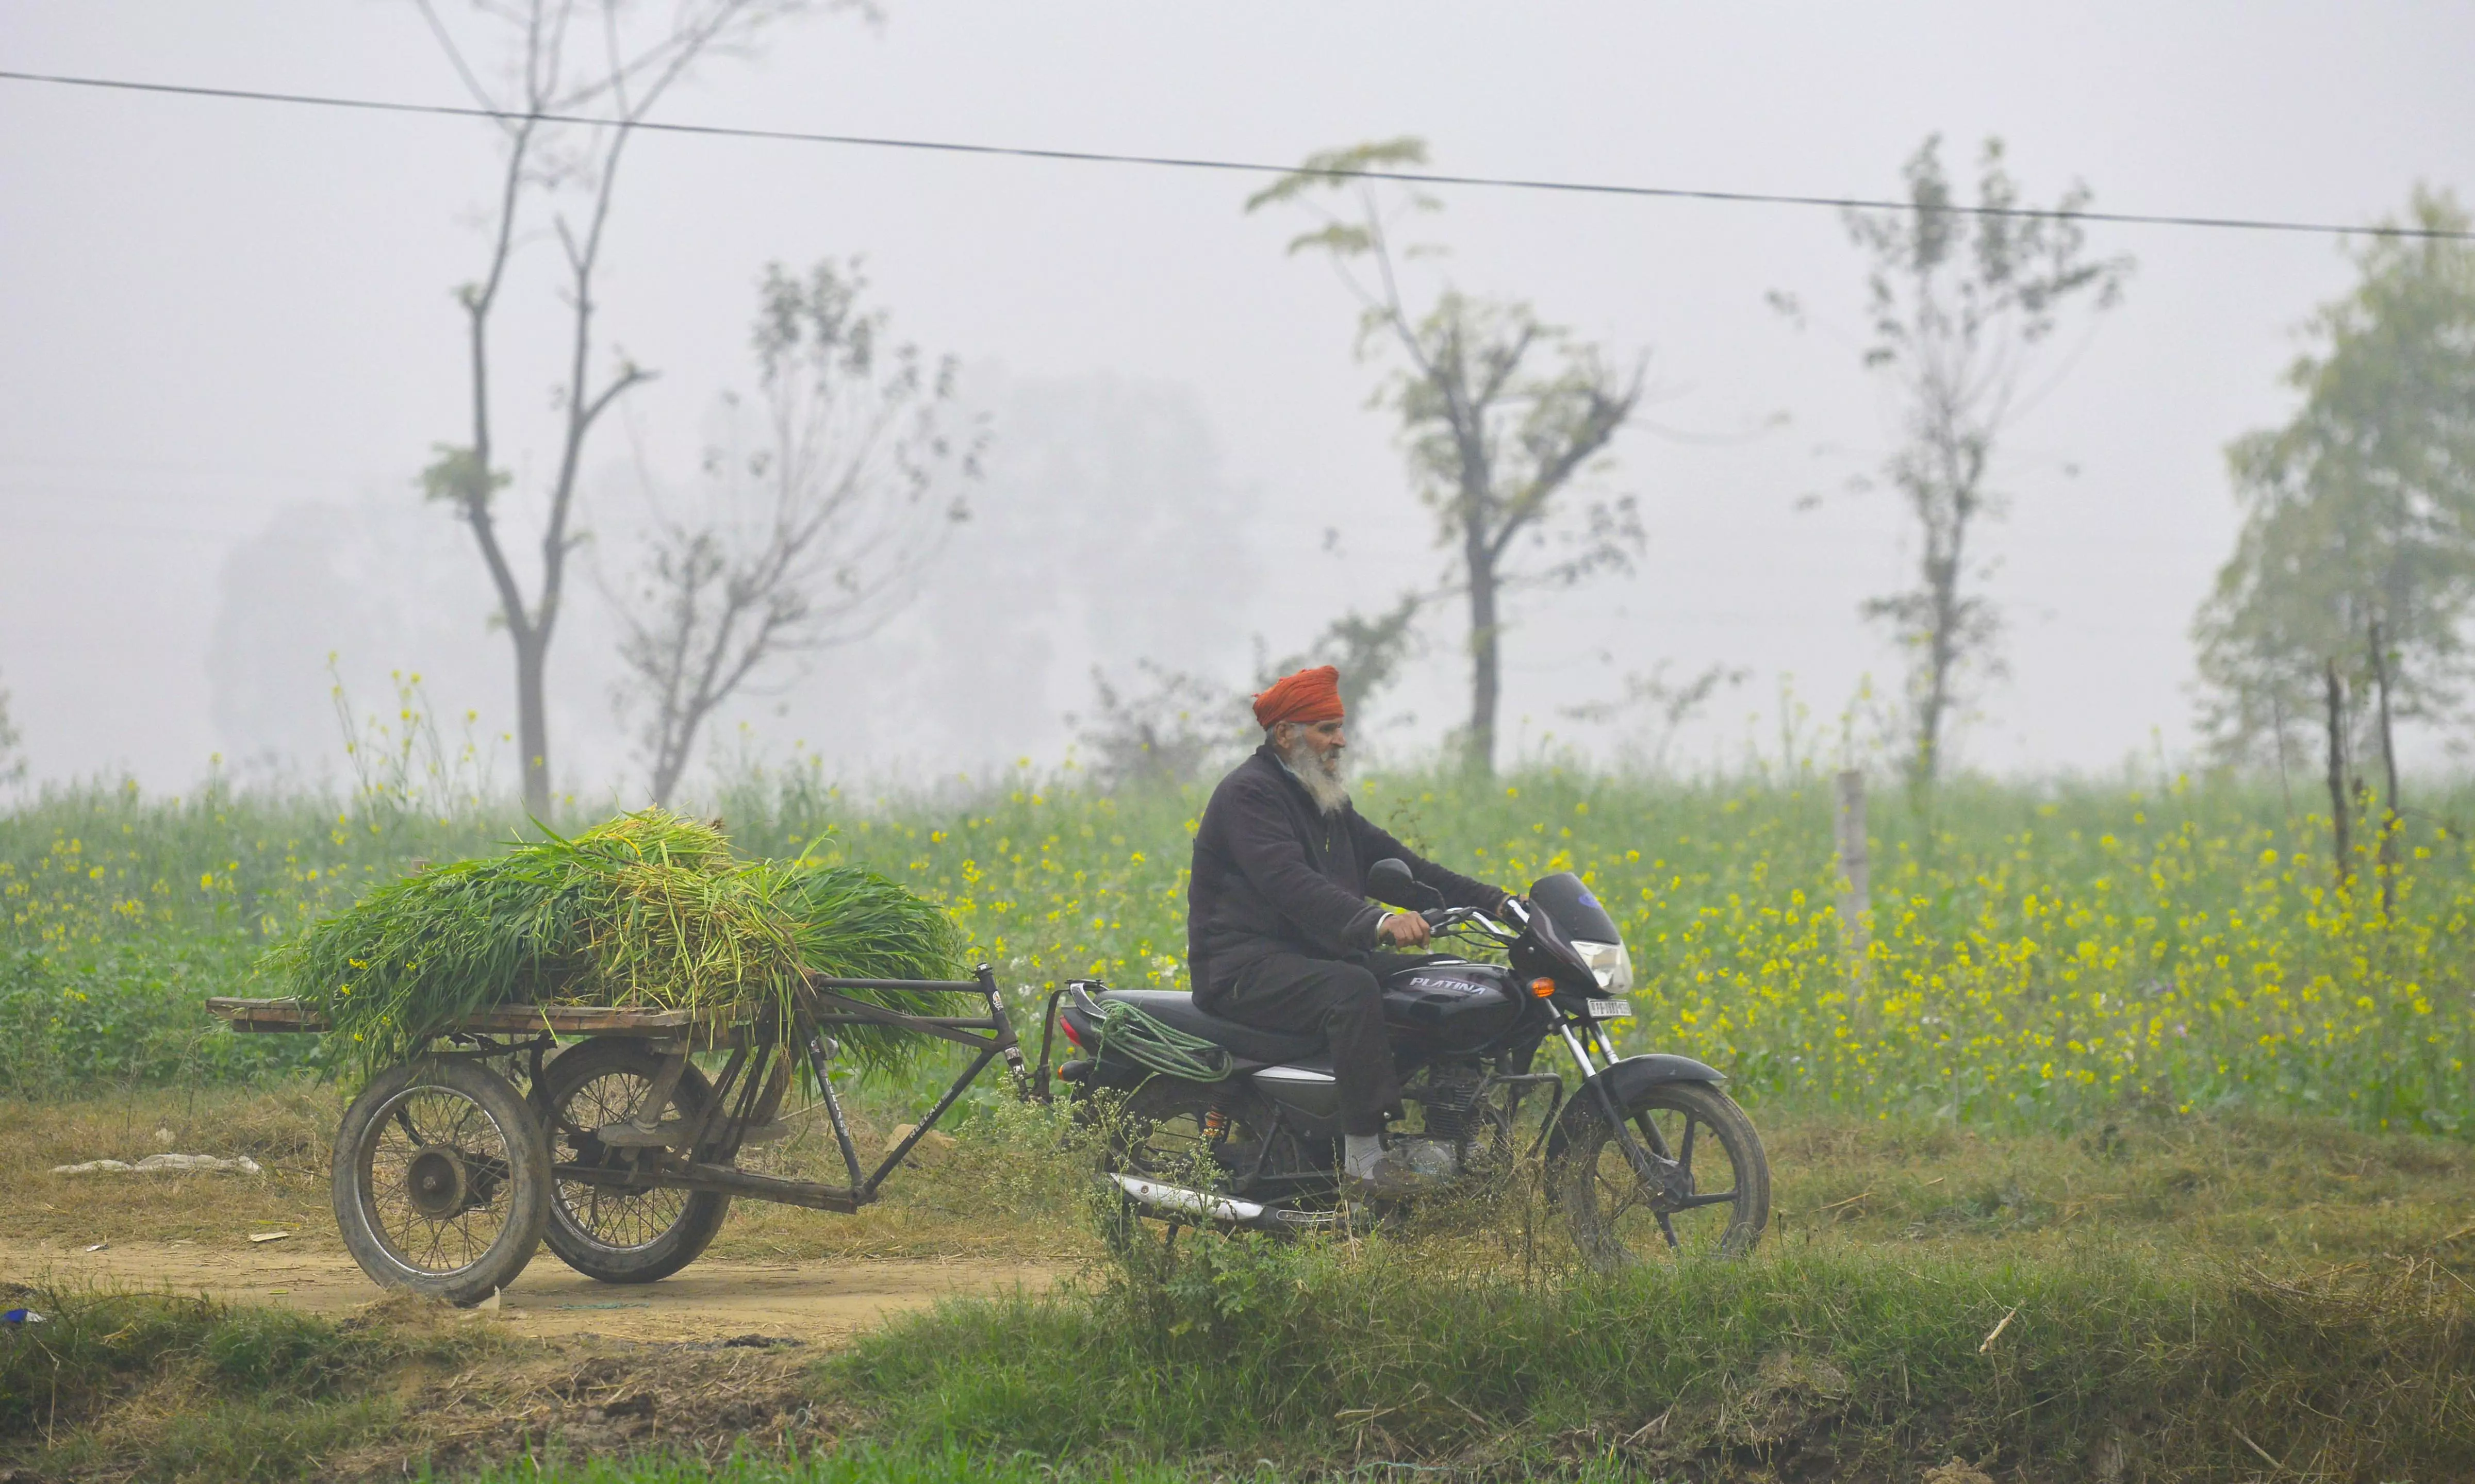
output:
[[[520, 1336], [614, 1336], [631, 1341], [723, 1341], [785, 1336], [809, 1343], [846, 1338], [886, 1313], [926, 1308], [950, 1294], [1047, 1289], [1067, 1264], [1012, 1261], [733, 1261], [700, 1259], [644, 1286], [596, 1284], [547, 1249], [500, 1296], [493, 1323]], [[109, 1281], [210, 1294], [233, 1303], [349, 1311], [379, 1298], [379, 1286], [342, 1252], [290, 1242], [114, 1242], [82, 1252], [52, 1242], [0, 1237], [0, 1279]]]

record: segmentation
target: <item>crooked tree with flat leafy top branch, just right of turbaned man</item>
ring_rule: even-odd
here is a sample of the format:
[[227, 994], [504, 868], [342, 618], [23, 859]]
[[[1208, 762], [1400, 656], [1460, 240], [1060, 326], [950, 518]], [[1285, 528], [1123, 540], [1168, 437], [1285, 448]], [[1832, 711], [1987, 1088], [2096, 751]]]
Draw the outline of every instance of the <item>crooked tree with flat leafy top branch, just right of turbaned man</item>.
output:
[[[1411, 477], [1436, 512], [1438, 539], [1455, 552], [1455, 584], [1470, 601], [1468, 762], [1495, 769], [1495, 712], [1502, 700], [1505, 596], [1522, 586], [1572, 584], [1624, 569], [1641, 549], [1631, 497], [1601, 500], [1559, 522], [1567, 487], [1606, 450], [1641, 403], [1641, 364], [1616, 369], [1596, 346], [1542, 324], [1530, 304], [1473, 299], [1445, 287], [1413, 312], [1398, 267], [1433, 255], [1431, 245], [1391, 240], [1403, 213], [1436, 200], [1401, 190], [1386, 198], [1349, 171], [1426, 163], [1426, 141], [1393, 139], [1307, 156], [1294, 173], [1247, 198], [1299, 205], [1322, 225], [1289, 240], [1289, 252], [1327, 252], [1359, 299], [1359, 351], [1376, 344], [1401, 356], [1381, 398], [1401, 418]], [[1322, 195], [1346, 198], [1346, 210]], [[1366, 272], [1361, 272], [1366, 270]], [[1525, 566], [1517, 544], [1562, 544], [1562, 554]]]

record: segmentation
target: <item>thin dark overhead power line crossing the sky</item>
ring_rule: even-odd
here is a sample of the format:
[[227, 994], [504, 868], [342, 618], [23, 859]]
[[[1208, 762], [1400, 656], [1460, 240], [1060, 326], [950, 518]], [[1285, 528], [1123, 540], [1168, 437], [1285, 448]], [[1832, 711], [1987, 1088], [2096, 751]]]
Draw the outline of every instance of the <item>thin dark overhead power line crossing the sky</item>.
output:
[[[473, 104], [401, 104], [389, 99], [346, 99], [334, 94], [295, 94], [295, 92], [260, 92], [245, 87], [198, 87], [178, 82], [131, 82], [126, 77], [67, 77], [57, 72], [5, 72], [0, 69], [0, 82], [42, 82], [54, 87], [89, 87], [109, 92], [136, 92], [136, 94], [171, 94], [188, 99], [228, 99], [248, 104], [302, 104], [314, 109], [359, 109], [369, 114], [426, 114], [438, 119], [490, 119], [497, 124], [522, 124], [535, 119], [540, 124], [584, 124], [596, 129], [621, 126], [621, 119], [599, 119], [592, 114], [515, 114], [505, 109], [483, 109]], [[1017, 161], [1067, 161], [1079, 166], [1151, 166], [1163, 171], [1225, 171], [1235, 176], [1292, 176], [1297, 166], [1270, 166], [1262, 161], [1215, 161], [1200, 156], [1148, 156], [1148, 153], [1116, 153], [1096, 148], [1035, 148], [1022, 143], [968, 143], [955, 139], [891, 139], [879, 134], [812, 134], [802, 129], [742, 129], [733, 124], [666, 124], [666, 121], [636, 121], [629, 129], [644, 129], [646, 134], [688, 134], [703, 139], [770, 139], [777, 143], [842, 143], [851, 148], [908, 148], [926, 153], [955, 153], [955, 156], [995, 156]], [[1492, 190], [1554, 190], [1564, 195], [1641, 195], [1653, 200], [1720, 200], [1732, 205], [1824, 205], [1834, 210], [1913, 210], [1916, 203], [1908, 200], [1876, 200], [1864, 195], [1792, 195], [1780, 190], [1695, 190], [1685, 186], [1616, 186], [1609, 181], [1542, 181], [1527, 176], [1443, 176], [1431, 171], [1366, 171], [1366, 168], [1339, 168], [1317, 171], [1319, 176], [1349, 178], [1349, 181], [1401, 181], [1408, 186], [1480, 186]], [[2299, 223], [2279, 218], [2225, 218], [2225, 215], [2185, 215], [2185, 213], [2141, 213], [2141, 210], [2054, 210], [2032, 205], [1960, 205], [1950, 203], [1953, 215], [1980, 215], [1980, 218], [2049, 218], [2049, 220], [2074, 220], [2074, 223], [2109, 223], [2128, 228], [2213, 228], [2235, 232], [2312, 232], [2312, 235], [2371, 235], [2371, 237], [2423, 237], [2443, 242], [2475, 242], [2475, 230], [2453, 228], [2396, 228], [2396, 225], [2344, 225], [2344, 223]]]

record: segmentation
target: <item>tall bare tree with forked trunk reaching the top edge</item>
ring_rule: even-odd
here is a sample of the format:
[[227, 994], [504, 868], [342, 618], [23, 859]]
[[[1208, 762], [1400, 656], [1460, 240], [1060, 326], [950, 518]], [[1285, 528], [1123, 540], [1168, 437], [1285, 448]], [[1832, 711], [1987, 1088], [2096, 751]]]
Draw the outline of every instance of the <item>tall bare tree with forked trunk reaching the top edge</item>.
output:
[[[473, 383], [473, 430], [465, 443], [441, 443], [421, 482], [431, 500], [448, 502], [473, 527], [483, 566], [497, 589], [497, 623], [515, 646], [515, 735], [525, 769], [525, 806], [549, 811], [549, 725], [542, 683], [549, 641], [567, 596], [567, 559], [579, 542], [577, 472], [587, 438], [601, 413], [653, 373], [624, 354], [596, 369], [596, 277], [604, 232], [619, 188], [629, 139], [688, 69], [713, 54], [747, 49], [767, 25], [809, 7], [809, 0], [673, 0], [639, 20], [626, 0], [473, 0], [488, 47], [497, 52], [495, 77], [475, 64], [468, 47], [433, 0], [416, 0], [431, 32], [473, 96], [497, 114], [500, 163], [488, 218], [483, 275], [455, 289], [465, 312], [465, 359]], [[569, 124], [552, 116], [596, 116], [606, 124]], [[517, 576], [502, 532], [500, 490], [512, 475], [497, 467], [490, 418], [490, 326], [507, 289], [517, 247], [547, 220], [562, 257], [567, 344], [564, 383], [557, 391], [557, 460], [540, 492], [540, 574], [532, 596]]]

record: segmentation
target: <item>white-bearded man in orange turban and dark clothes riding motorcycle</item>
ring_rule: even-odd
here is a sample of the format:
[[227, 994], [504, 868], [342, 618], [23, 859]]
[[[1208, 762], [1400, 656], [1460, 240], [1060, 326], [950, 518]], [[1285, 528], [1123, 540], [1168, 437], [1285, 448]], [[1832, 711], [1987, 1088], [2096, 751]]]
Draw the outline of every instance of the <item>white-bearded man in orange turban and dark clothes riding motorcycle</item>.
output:
[[1401, 1083], [1376, 982], [1431, 955], [1418, 913], [1366, 900], [1384, 858], [1455, 908], [1500, 915], [1512, 893], [1408, 851], [1349, 804], [1339, 670], [1285, 675], [1255, 697], [1262, 747], [1240, 762], [1195, 831], [1186, 885], [1186, 962], [1195, 1007], [1277, 1031], [1322, 1034], [1341, 1098], [1344, 1170], [1361, 1195], [1411, 1195], [1436, 1182], [1386, 1155], [1384, 1120]]

